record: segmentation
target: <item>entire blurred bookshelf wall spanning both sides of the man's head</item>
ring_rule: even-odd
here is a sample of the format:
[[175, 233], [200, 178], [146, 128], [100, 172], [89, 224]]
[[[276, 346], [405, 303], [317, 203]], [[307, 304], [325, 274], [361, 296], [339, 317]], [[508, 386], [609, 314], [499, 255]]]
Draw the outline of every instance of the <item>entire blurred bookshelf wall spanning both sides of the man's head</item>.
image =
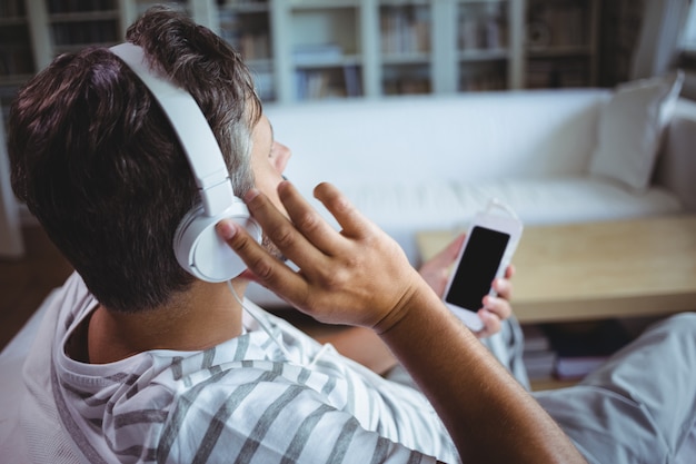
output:
[[[2, 85], [26, 80], [62, 51], [122, 40], [155, 3], [0, 0], [0, 59], [17, 57], [13, 71], [0, 63]], [[597, 82], [598, 0], [168, 3], [233, 45], [267, 102]]]

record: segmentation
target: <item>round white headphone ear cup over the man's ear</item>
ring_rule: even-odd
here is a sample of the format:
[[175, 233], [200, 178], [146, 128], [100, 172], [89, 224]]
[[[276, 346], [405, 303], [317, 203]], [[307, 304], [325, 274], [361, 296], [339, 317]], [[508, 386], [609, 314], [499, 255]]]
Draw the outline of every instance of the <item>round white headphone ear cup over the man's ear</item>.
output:
[[179, 265], [201, 280], [229, 280], [247, 268], [215, 230], [216, 224], [222, 219], [232, 219], [245, 227], [257, 241], [261, 241], [261, 228], [238, 198], [220, 215], [212, 217], [205, 215], [201, 205], [191, 209], [175, 233], [173, 250]]

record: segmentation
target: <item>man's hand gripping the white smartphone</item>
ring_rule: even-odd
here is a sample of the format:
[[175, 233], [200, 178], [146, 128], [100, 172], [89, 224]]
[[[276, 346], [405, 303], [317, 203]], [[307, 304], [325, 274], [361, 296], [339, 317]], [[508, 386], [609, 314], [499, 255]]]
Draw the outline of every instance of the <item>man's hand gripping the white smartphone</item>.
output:
[[[440, 298], [445, 294], [450, 267], [457, 259], [459, 250], [464, 246], [465, 238], [465, 235], [458, 236], [445, 249], [424, 263], [420, 267], [420, 276]], [[513, 294], [513, 284], [509, 279], [513, 278], [514, 275], [515, 268], [508, 266], [505, 270], [505, 277], [493, 282], [493, 289], [496, 290], [498, 296], [493, 297], [487, 295], [484, 297], [481, 302], [483, 306], [478, 310], [478, 317], [484, 322], [484, 328], [475, 333], [477, 337], [483, 338], [497, 334], [500, 332], [500, 322], [507, 319], [513, 314], [513, 308], [509, 303]]]

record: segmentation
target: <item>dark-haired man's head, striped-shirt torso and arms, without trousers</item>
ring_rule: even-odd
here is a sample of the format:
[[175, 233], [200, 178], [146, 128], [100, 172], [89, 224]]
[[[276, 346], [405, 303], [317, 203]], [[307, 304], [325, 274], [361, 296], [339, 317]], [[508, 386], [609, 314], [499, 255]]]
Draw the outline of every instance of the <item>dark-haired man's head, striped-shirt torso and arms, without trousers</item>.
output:
[[[187, 274], [171, 244], [199, 194], [152, 96], [103, 49], [59, 57], [32, 79], [11, 110], [12, 184], [77, 270], [27, 362], [34, 458], [583, 462], [392, 240], [322, 185], [317, 197], [342, 227], [331, 230], [282, 180], [289, 151], [237, 53], [163, 9], [127, 39], [197, 100], [267, 239], [223, 220], [219, 234], [249, 270], [229, 288]], [[422, 393], [241, 302], [249, 279], [320, 320], [372, 330]], [[496, 332], [509, 305], [498, 298], [481, 315]]]

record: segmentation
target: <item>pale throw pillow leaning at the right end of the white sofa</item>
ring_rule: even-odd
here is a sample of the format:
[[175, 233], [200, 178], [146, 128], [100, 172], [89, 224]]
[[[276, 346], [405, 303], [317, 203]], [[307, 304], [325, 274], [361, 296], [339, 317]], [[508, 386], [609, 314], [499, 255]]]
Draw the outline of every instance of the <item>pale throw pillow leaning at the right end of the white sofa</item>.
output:
[[636, 190], [647, 188], [683, 80], [684, 75], [678, 71], [616, 88], [599, 116], [591, 175], [615, 179]]

